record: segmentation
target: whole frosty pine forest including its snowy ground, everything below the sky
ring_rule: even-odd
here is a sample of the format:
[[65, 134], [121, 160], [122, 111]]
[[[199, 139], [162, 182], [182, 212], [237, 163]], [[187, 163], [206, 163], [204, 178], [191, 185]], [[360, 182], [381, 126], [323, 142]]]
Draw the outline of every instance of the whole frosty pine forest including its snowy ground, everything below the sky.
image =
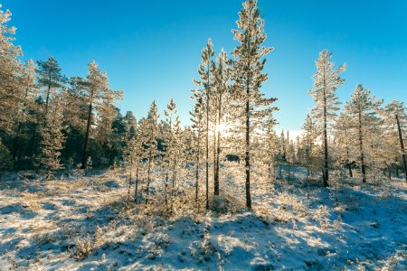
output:
[[173, 98], [145, 101], [144, 117], [120, 112], [126, 89], [97, 61], [71, 78], [51, 56], [23, 61], [0, 5], [4, 270], [407, 266], [402, 101], [357, 84], [340, 103], [346, 65], [322, 50], [302, 134], [278, 131], [257, 1], [237, 19], [232, 52], [208, 39], [196, 53], [185, 126]]

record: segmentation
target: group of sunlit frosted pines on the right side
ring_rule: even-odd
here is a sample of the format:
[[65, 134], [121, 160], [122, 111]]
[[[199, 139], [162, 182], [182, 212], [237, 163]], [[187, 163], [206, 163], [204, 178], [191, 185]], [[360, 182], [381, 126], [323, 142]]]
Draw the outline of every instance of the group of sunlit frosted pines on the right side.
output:
[[324, 186], [329, 184], [330, 168], [347, 169], [351, 178], [357, 169], [363, 182], [383, 179], [383, 174], [391, 179], [392, 170], [399, 177], [402, 169], [407, 181], [407, 115], [403, 103], [392, 101], [384, 106], [383, 99], [357, 84], [341, 108], [336, 89], [344, 83], [340, 73], [345, 65], [335, 69], [331, 57], [331, 53], [321, 51], [316, 61], [314, 89], [309, 91], [315, 107], [306, 118], [305, 135], [298, 145], [304, 156], [302, 164], [313, 171], [322, 168]]

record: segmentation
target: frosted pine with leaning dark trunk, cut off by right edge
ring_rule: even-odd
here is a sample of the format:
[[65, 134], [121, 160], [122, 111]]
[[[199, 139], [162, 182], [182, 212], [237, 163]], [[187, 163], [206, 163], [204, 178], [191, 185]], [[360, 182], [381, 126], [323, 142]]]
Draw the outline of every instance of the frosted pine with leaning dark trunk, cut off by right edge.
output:
[[388, 125], [388, 130], [397, 131], [399, 140], [399, 154], [402, 156], [402, 167], [404, 169], [404, 178], [407, 181], [407, 161], [405, 156], [404, 136], [407, 127], [407, 114], [402, 102], [392, 101], [386, 105], [383, 110], [383, 117]]

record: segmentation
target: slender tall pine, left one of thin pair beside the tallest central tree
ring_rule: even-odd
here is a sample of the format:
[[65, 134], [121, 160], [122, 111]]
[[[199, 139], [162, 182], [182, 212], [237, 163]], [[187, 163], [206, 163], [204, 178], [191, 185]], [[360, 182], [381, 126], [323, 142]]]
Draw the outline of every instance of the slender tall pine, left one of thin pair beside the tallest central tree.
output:
[[204, 50], [202, 51], [202, 63], [199, 65], [198, 74], [200, 80], [194, 79], [194, 84], [201, 86], [203, 89], [193, 89], [194, 98], [202, 98], [205, 110], [205, 169], [206, 169], [206, 209], [209, 209], [209, 121], [210, 121], [210, 108], [211, 108], [211, 91], [213, 88], [212, 72], [213, 72], [213, 43], [209, 39]]

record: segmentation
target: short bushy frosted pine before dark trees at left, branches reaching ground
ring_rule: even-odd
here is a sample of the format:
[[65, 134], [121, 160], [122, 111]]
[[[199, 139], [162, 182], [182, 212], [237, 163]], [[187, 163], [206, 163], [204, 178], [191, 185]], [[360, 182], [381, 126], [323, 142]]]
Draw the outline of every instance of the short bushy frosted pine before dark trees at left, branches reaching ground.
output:
[[46, 172], [47, 179], [54, 171], [62, 168], [61, 151], [64, 141], [62, 112], [61, 98], [57, 96], [50, 101], [45, 122], [40, 129], [42, 143], [39, 162]]

